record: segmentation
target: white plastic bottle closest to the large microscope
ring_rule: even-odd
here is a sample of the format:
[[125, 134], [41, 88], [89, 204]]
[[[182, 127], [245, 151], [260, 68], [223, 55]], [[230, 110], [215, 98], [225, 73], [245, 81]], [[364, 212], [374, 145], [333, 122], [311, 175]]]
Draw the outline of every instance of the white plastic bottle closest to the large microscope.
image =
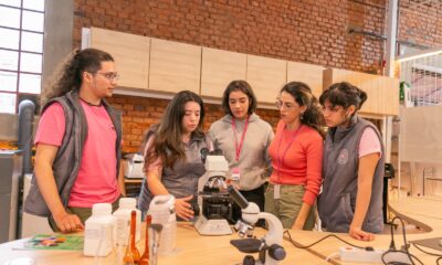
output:
[[177, 215], [175, 213], [175, 197], [156, 195], [149, 205], [148, 214], [152, 224], [161, 224], [162, 232], [159, 239], [158, 254], [169, 255], [176, 247]]

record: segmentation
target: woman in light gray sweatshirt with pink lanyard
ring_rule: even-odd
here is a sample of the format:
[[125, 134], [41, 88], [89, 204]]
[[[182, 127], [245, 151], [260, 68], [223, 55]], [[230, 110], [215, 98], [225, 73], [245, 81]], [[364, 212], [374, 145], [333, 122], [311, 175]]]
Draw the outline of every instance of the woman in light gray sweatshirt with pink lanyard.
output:
[[[215, 149], [229, 162], [230, 174], [240, 192], [264, 211], [264, 182], [271, 172], [267, 153], [273, 131], [270, 124], [255, 113], [256, 97], [245, 81], [232, 81], [224, 91], [222, 108], [225, 116], [214, 121], [209, 135]], [[241, 209], [233, 208], [233, 221]]]

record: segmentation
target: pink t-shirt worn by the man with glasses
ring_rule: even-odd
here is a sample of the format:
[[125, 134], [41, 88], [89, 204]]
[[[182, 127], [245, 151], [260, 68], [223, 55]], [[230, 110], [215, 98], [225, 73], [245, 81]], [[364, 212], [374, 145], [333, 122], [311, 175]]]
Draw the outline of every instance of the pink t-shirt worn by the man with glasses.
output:
[[[98, 202], [115, 202], [119, 197], [117, 183], [116, 131], [104, 106], [81, 102], [87, 119], [78, 176], [72, 188], [69, 206], [92, 208]], [[52, 104], [41, 116], [34, 144], [60, 147], [65, 131], [61, 104]]]

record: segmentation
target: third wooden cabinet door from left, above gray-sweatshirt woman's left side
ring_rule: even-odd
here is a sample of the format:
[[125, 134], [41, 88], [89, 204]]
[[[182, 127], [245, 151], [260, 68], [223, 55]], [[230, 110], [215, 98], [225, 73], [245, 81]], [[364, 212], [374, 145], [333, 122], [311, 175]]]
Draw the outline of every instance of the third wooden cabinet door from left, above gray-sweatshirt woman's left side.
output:
[[221, 98], [234, 80], [245, 80], [246, 55], [202, 47], [201, 96]]

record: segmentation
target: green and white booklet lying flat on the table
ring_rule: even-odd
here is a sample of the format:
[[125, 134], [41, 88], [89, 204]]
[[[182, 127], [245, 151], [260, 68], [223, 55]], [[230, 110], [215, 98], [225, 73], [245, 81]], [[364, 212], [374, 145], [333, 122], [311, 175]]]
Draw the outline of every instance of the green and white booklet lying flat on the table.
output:
[[23, 250], [82, 251], [84, 236], [39, 234], [23, 243]]

